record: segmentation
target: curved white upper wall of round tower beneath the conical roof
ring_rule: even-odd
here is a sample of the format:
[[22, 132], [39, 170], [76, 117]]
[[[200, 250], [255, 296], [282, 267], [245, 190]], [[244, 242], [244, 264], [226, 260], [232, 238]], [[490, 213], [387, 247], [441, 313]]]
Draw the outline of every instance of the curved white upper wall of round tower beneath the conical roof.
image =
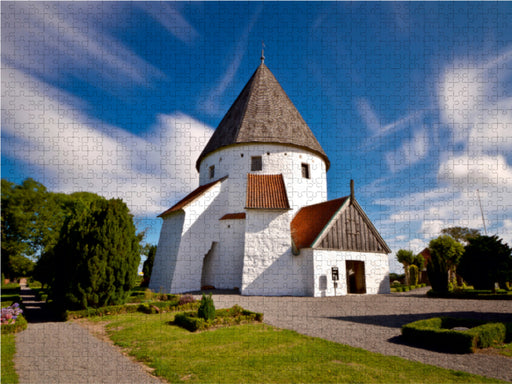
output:
[[[242, 157], [243, 155], [243, 157]], [[251, 157], [262, 157], [262, 170], [251, 171]], [[309, 179], [302, 177], [301, 164], [309, 165]], [[327, 177], [323, 159], [310, 151], [278, 144], [244, 144], [222, 148], [206, 156], [200, 165], [199, 184], [227, 176], [230, 212], [245, 208], [247, 174], [283, 174], [288, 200], [293, 213], [304, 205], [327, 200]]]

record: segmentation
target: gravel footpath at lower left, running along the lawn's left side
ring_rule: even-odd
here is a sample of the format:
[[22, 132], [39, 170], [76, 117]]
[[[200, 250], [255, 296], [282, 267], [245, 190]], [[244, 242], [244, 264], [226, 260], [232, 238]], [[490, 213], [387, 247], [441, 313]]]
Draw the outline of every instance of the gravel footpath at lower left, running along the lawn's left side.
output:
[[21, 384], [161, 384], [115, 347], [73, 322], [58, 322], [21, 287], [28, 328], [16, 335], [14, 363]]

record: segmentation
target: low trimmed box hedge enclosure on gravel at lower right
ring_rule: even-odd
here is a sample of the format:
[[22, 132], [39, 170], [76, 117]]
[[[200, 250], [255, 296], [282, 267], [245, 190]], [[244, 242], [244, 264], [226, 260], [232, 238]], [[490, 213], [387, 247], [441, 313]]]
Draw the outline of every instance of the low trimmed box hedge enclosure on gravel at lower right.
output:
[[[457, 331], [452, 329], [455, 327], [469, 329]], [[434, 317], [404, 325], [402, 336], [410, 342], [427, 347], [455, 353], [473, 353], [476, 348], [487, 348], [512, 339], [512, 324]]]

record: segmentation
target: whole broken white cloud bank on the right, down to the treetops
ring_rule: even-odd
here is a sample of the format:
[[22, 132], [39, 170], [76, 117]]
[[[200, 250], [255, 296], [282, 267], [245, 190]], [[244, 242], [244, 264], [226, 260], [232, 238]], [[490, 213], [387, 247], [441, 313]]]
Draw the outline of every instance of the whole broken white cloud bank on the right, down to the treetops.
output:
[[[419, 226], [426, 242], [451, 226], [483, 233], [481, 203], [489, 233], [512, 244], [511, 63], [508, 49], [486, 60], [456, 60], [446, 67], [437, 99], [441, 122], [452, 140], [439, 142], [439, 157], [433, 159], [438, 164], [438, 185], [426, 192], [377, 200], [393, 211], [386, 226]], [[412, 148], [418, 150], [421, 139], [412, 141]], [[403, 149], [402, 145], [398, 153], [406, 158]]]

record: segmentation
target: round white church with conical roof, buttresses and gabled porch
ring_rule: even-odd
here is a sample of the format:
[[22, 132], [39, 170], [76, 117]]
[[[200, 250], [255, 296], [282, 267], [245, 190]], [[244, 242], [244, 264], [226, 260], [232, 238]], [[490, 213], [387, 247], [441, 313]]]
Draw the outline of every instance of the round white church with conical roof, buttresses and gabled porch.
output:
[[391, 252], [354, 198], [327, 201], [330, 162], [263, 60], [162, 213], [149, 287], [242, 295], [389, 293]]

